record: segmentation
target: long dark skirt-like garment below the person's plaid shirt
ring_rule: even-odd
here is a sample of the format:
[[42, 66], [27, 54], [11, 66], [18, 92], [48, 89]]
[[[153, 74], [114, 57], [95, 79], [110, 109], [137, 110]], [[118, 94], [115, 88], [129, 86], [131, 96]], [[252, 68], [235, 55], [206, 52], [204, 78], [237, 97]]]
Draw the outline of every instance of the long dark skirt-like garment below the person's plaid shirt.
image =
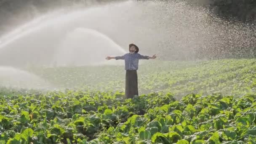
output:
[[126, 70], [125, 73], [125, 98], [133, 98], [139, 95], [138, 92], [138, 75], [136, 70]]

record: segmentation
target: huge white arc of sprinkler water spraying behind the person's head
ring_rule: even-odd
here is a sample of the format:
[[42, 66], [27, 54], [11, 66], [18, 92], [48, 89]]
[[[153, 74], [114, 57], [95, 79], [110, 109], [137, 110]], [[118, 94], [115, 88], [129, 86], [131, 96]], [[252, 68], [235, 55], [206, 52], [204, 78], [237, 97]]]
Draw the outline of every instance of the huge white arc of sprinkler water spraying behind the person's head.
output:
[[221, 58], [229, 53], [222, 52], [225, 45], [253, 43], [250, 32], [183, 2], [128, 0], [53, 11], [14, 29], [0, 37], [0, 66], [105, 65], [106, 56], [122, 55], [129, 43], [136, 43], [145, 55], [158, 52], [160, 59]]

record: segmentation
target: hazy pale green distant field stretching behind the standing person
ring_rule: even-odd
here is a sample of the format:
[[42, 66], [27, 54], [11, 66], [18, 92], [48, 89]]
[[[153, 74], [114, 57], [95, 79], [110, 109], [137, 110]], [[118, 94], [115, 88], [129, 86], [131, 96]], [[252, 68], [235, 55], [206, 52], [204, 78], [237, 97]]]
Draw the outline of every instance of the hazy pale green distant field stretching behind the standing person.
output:
[[[144, 61], [139, 66], [139, 93], [171, 92], [184, 96], [222, 93], [242, 96], [256, 93], [256, 59], [214, 61]], [[30, 68], [56, 88], [92, 88], [124, 91], [124, 66]]]

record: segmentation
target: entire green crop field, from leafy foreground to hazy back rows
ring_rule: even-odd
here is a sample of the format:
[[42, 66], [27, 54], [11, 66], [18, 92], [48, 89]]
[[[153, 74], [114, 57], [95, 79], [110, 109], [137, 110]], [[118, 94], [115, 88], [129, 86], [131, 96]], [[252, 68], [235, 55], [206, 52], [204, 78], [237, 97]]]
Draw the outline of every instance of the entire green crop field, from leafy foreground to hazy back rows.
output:
[[0, 144], [255, 144], [256, 59], [27, 67], [50, 89], [0, 88]]

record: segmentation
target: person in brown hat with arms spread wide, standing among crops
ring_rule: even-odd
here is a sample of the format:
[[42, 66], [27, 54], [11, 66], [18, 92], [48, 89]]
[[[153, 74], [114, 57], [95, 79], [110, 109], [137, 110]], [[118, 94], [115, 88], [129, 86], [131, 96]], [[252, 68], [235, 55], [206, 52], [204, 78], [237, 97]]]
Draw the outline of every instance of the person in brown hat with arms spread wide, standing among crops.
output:
[[135, 95], [139, 95], [138, 92], [138, 76], [137, 76], [137, 69], [139, 66], [139, 59], [155, 59], [156, 56], [143, 56], [140, 55], [139, 48], [135, 44], [129, 45], [129, 51], [130, 53], [126, 53], [123, 56], [107, 56], [107, 60], [110, 59], [124, 59], [125, 60], [125, 97], [127, 99], [133, 98]]

